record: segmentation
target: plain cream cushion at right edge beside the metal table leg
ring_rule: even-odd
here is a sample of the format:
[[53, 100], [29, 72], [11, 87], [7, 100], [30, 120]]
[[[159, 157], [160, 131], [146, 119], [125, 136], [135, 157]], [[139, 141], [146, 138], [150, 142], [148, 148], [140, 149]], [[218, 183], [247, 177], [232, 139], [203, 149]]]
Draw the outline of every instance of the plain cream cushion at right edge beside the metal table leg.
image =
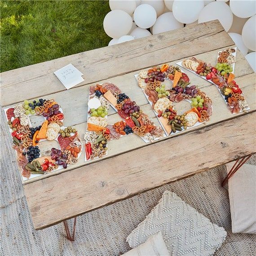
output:
[[[233, 163], [228, 163], [227, 171]], [[229, 179], [230, 214], [233, 233], [256, 234], [256, 166], [244, 164]]]

